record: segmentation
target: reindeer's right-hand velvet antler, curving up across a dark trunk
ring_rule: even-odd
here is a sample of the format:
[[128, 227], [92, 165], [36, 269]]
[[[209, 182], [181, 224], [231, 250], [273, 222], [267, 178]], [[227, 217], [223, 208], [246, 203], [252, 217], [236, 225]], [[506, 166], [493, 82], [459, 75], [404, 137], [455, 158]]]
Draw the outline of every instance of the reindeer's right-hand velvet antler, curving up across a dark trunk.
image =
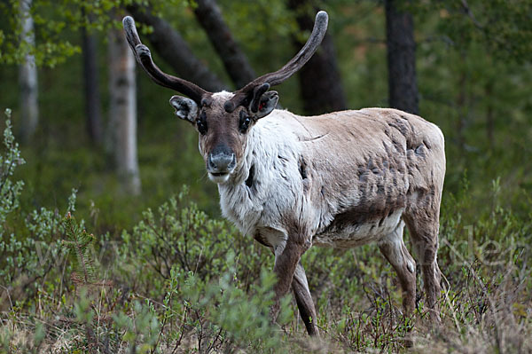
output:
[[[316, 20], [314, 22], [314, 28], [312, 28], [312, 33], [307, 40], [307, 43], [301, 48], [293, 59], [290, 59], [284, 67], [278, 69], [274, 73], [269, 73], [262, 75], [251, 83], [246, 84], [242, 89], [235, 92], [235, 96], [225, 102], [224, 108], [227, 112], [232, 112], [237, 106], [242, 104], [249, 104], [251, 100], [260, 99], [258, 95], [254, 94], [254, 90], [257, 86], [261, 86], [263, 83], [269, 83], [270, 86], [278, 85], [283, 83], [290, 76], [295, 74], [301, 67], [303, 67], [307, 61], [314, 55], [319, 47], [319, 44], [322, 42], [327, 31], [327, 24], [329, 21], [329, 15], [327, 12], [320, 11], [317, 12]], [[262, 92], [263, 93], [263, 92]], [[255, 105], [252, 105], [255, 106]]]

